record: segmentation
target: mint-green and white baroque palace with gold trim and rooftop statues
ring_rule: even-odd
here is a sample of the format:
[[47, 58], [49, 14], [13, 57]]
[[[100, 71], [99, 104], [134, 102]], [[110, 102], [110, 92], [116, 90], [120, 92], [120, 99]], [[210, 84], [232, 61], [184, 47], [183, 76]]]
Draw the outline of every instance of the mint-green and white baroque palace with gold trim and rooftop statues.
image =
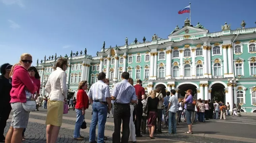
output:
[[[199, 22], [196, 26], [186, 19], [182, 28], [175, 29], [167, 39], [153, 35], [150, 41], [143, 38], [124, 46], [105, 48], [105, 42], [96, 57], [87, 51], [65, 56], [69, 65], [67, 87], [76, 95], [79, 81], [90, 85], [97, 82], [100, 72], [110, 80], [110, 92], [121, 81], [124, 71], [130, 77], [143, 81], [146, 93], [160, 86], [163, 94], [175, 89], [182, 97], [187, 89], [193, 90], [196, 99], [212, 99], [242, 105], [242, 112], [256, 113], [256, 27], [231, 30], [225, 23], [219, 32], [209, 33]], [[61, 57], [61, 56], [60, 56]], [[52, 58], [52, 59], [51, 59]], [[41, 94], [47, 95], [44, 86], [56, 61], [55, 54], [38, 63], [41, 76]]]

